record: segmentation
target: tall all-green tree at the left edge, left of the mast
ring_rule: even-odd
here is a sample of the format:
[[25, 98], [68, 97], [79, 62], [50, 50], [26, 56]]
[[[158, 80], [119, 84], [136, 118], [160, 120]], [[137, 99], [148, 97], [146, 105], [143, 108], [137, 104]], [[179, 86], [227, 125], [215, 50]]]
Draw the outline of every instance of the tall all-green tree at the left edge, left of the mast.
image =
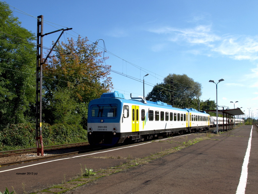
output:
[[0, 2], [0, 128], [33, 120], [36, 50], [33, 33]]

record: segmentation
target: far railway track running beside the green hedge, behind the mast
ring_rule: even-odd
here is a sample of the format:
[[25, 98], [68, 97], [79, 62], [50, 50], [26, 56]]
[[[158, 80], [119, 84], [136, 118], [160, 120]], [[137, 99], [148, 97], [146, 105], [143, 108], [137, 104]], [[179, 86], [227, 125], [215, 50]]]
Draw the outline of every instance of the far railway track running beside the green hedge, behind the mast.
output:
[[[58, 149], [79, 147], [79, 146], [86, 146], [86, 145], [90, 145], [90, 144], [88, 142], [81, 142], [81, 143], [45, 146], [44, 151], [58, 150]], [[20, 150], [2, 151], [2, 152], [0, 152], [0, 157], [11, 156], [14, 154], [30, 153], [30, 152], [35, 152], [35, 151], [37, 151], [37, 148], [26, 148], [26, 149], [20, 149]]]

